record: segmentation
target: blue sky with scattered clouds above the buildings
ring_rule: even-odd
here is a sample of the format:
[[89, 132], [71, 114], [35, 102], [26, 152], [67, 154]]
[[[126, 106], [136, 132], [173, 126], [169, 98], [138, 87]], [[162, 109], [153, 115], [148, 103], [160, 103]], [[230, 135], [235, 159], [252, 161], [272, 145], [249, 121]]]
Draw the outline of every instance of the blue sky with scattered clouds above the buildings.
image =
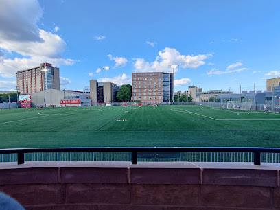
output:
[[60, 89], [168, 65], [175, 91], [265, 89], [280, 76], [279, 11], [279, 0], [0, 0], [0, 91], [43, 62], [60, 68]]

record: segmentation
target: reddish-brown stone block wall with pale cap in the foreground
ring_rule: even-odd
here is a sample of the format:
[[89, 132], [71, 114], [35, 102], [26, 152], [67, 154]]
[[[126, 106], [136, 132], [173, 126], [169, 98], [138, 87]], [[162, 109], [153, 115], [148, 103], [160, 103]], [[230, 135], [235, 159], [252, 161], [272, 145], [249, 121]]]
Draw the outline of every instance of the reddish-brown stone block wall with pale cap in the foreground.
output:
[[280, 209], [279, 163], [0, 163], [26, 209]]

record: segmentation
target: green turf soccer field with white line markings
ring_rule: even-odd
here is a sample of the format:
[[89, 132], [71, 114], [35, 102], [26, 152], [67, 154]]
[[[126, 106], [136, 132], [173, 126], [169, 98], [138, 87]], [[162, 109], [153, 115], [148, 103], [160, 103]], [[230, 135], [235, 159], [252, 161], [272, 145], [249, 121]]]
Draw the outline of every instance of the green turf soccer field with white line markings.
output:
[[0, 148], [279, 147], [280, 113], [200, 106], [0, 110]]

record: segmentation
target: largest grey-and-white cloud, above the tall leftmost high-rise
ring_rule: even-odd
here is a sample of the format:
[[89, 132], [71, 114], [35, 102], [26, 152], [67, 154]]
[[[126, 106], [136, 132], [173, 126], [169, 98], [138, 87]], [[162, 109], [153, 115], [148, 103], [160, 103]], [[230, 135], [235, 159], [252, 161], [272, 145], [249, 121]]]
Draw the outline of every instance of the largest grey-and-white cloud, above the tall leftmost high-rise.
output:
[[36, 0], [1, 1], [0, 48], [23, 56], [1, 60], [1, 77], [14, 78], [16, 71], [37, 67], [42, 62], [56, 67], [77, 62], [62, 58], [66, 43], [60, 36], [38, 28], [36, 23], [42, 14], [43, 10]]

